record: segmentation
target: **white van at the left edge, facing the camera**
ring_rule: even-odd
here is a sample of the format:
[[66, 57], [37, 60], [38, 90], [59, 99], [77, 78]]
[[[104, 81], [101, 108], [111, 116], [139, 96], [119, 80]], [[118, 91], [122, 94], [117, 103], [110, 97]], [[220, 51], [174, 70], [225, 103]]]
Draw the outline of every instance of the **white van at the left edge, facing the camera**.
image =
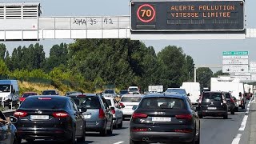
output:
[[0, 102], [2, 105], [9, 106], [9, 102], [18, 102], [18, 81], [0, 80]]

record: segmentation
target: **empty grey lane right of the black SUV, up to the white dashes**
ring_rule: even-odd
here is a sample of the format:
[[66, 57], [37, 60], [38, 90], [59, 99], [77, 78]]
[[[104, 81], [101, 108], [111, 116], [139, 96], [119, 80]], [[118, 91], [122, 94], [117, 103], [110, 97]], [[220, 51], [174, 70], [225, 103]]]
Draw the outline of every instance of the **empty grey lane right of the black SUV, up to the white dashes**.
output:
[[245, 114], [246, 110], [239, 109], [234, 115], [229, 112], [228, 119], [222, 117], [201, 118], [201, 143], [232, 143], [238, 134]]

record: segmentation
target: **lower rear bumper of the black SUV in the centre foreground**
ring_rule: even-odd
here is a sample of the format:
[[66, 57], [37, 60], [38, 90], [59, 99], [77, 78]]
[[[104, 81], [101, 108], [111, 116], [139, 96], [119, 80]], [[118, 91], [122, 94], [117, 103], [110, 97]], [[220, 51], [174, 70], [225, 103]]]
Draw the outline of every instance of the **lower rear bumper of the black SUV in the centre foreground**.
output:
[[130, 132], [130, 138], [134, 141], [146, 142], [192, 142], [194, 134], [177, 132]]

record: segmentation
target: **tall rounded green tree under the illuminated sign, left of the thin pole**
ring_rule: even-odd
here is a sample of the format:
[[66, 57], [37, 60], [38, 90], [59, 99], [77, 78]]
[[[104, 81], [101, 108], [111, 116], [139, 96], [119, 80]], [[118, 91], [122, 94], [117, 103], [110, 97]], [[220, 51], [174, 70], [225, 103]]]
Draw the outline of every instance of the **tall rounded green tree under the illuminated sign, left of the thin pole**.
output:
[[187, 79], [186, 55], [181, 47], [166, 46], [158, 53], [158, 78], [166, 87], [179, 87]]

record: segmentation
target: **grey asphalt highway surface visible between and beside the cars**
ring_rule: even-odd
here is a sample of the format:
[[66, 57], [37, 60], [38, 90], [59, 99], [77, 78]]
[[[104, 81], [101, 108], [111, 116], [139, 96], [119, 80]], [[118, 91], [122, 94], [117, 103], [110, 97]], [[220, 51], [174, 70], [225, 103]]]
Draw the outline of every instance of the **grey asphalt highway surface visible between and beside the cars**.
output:
[[[247, 102], [248, 105], [249, 102]], [[256, 104], [254, 103], [256, 107]], [[249, 108], [249, 107], [248, 107]], [[247, 112], [246, 112], [247, 111]], [[243, 122], [247, 110], [239, 110], [234, 115], [229, 115], [228, 119], [206, 117], [201, 119], [201, 143], [202, 144], [249, 144], [250, 137], [250, 120]], [[248, 119], [251, 115], [249, 114]], [[129, 143], [129, 119], [123, 123], [123, 128], [114, 130], [110, 136], [102, 137], [98, 133], [86, 133], [86, 144], [127, 144]], [[245, 125], [246, 124], [246, 125]], [[237, 139], [239, 137], [239, 140]], [[241, 137], [241, 139], [240, 139]], [[239, 142], [240, 141], [240, 142]], [[22, 141], [26, 144], [26, 141]], [[45, 141], [37, 141], [36, 143], [45, 143]], [[49, 142], [49, 144], [55, 142]], [[78, 144], [82, 144], [81, 142]]]

